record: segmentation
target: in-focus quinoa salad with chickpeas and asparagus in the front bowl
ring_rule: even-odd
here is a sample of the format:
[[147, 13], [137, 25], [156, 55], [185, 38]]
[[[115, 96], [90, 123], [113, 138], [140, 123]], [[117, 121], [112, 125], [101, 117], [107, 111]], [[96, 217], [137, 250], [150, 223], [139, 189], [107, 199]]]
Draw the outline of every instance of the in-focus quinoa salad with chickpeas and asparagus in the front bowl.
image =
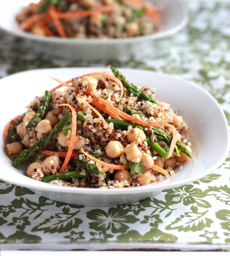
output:
[[12, 166], [61, 186], [125, 188], [176, 175], [192, 159], [189, 127], [156, 89], [120, 71], [80, 74], [36, 96], [4, 129]]

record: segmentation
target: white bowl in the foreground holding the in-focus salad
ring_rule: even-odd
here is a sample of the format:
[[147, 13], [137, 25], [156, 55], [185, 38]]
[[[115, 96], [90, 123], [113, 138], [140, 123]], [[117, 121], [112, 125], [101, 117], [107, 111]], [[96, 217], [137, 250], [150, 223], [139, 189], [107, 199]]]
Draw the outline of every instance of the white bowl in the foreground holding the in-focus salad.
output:
[[[30, 104], [35, 96], [41, 96], [46, 89], [57, 85], [49, 77], [62, 81], [80, 74], [93, 71], [104, 71], [102, 68], [54, 68], [36, 69], [13, 74], [0, 79], [2, 109], [0, 134], [5, 124], [18, 114], [25, 112], [25, 106]], [[226, 159], [229, 150], [228, 125], [225, 115], [217, 101], [204, 89], [165, 74], [134, 69], [120, 69], [137, 86], [153, 86], [156, 97], [160, 101], [171, 104], [174, 110], [179, 110], [190, 126], [187, 134], [192, 142], [193, 159], [187, 162], [176, 175], [164, 178], [152, 185], [122, 188], [94, 189], [60, 187], [26, 177], [25, 171], [11, 167], [12, 161], [3, 151], [1, 140], [0, 179], [16, 185], [29, 188], [38, 195], [53, 200], [88, 206], [108, 206], [132, 203], [155, 195], [167, 188], [191, 183], [215, 170]], [[5, 109], [5, 111], [3, 111]], [[218, 132], [217, 132], [218, 130]]]

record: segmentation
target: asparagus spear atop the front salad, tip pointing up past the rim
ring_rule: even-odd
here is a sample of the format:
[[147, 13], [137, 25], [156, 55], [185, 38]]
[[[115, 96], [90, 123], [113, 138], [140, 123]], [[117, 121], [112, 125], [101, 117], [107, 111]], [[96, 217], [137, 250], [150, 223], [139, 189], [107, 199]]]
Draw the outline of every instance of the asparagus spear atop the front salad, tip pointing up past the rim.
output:
[[114, 76], [116, 76], [118, 79], [120, 79], [120, 81], [122, 82], [123, 86], [130, 92], [133, 92], [134, 95], [140, 97], [141, 99], [144, 99], [145, 101], [150, 101], [152, 103], [157, 104], [157, 102], [152, 99], [151, 97], [149, 97], [147, 94], [141, 92], [137, 86], [135, 86], [134, 84], [130, 84], [128, 82], [128, 80], [125, 78], [125, 76], [123, 76], [122, 73], [120, 73], [120, 71], [118, 71], [116, 68], [114, 68], [113, 66], [110, 66]]

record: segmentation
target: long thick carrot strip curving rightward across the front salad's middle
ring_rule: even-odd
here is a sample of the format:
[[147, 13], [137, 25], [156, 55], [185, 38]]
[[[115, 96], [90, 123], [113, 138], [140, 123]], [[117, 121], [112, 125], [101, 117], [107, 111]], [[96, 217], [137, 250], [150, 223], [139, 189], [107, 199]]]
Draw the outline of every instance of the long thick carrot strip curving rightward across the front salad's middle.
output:
[[97, 99], [97, 101], [99, 101], [101, 104], [106, 106], [108, 109], [113, 111], [118, 116], [123, 117], [124, 119], [126, 119], [128, 121], [131, 121], [133, 123], [141, 124], [143, 126], [161, 126], [161, 125], [164, 125], [164, 124], [167, 123], [167, 120], [156, 121], [156, 122], [148, 122], [148, 121], [145, 121], [145, 120], [138, 119], [136, 117], [133, 117], [133, 116], [130, 116], [130, 115], [126, 114], [125, 112], [121, 111], [120, 109], [117, 109], [117, 107], [112, 106], [111, 104], [109, 104], [107, 101], [105, 101], [102, 98], [99, 98], [99, 97], [94, 97], [94, 98]]

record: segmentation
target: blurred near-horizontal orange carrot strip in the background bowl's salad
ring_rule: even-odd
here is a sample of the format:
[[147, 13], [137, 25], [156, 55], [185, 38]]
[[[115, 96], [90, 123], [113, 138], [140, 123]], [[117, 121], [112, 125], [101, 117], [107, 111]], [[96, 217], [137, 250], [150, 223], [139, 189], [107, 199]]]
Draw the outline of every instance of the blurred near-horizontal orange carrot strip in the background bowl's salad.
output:
[[84, 11], [77, 11], [77, 12], [58, 12], [57, 16], [60, 19], [80, 18], [80, 17], [91, 16], [96, 12], [105, 13], [105, 12], [111, 12], [112, 10], [113, 10], [113, 7], [111, 5], [105, 5], [100, 8], [95, 8], [92, 10], [84, 10]]

